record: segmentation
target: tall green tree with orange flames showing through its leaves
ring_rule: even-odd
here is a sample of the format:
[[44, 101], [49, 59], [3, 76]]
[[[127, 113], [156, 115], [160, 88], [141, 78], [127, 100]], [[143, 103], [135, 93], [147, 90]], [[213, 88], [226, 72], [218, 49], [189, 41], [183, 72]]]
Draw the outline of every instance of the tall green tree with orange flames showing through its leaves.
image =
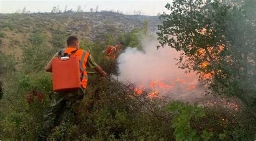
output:
[[[179, 67], [197, 71], [214, 93], [253, 105], [256, 97], [255, 5], [174, 0], [166, 4], [158, 40], [180, 51]], [[160, 47], [160, 46], [159, 46]], [[209, 77], [210, 76], [210, 77]]]

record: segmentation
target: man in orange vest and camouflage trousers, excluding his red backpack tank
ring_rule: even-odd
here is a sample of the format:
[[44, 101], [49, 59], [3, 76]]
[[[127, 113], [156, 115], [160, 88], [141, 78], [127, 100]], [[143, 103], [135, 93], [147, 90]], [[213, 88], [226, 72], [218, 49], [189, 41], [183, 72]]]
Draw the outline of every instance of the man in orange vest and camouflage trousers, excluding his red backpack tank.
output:
[[[75, 55], [78, 57], [79, 62], [83, 65], [84, 69], [87, 66], [95, 69], [104, 77], [107, 75], [104, 70], [96, 64], [89, 52], [79, 49], [79, 40], [76, 37], [69, 37], [66, 40], [66, 43], [68, 47], [56, 53], [53, 59], [61, 54], [75, 51]], [[46, 65], [45, 71], [52, 72], [52, 60]], [[71, 125], [72, 120], [75, 119], [77, 107], [84, 97], [84, 89], [87, 86], [86, 69], [82, 73], [83, 77], [81, 78], [81, 89], [75, 91], [54, 92], [52, 94], [51, 106], [45, 114], [43, 129], [41, 130], [37, 140], [46, 140], [48, 138], [51, 130], [57, 126], [57, 121], [60, 115], [62, 115], [62, 120], [59, 123], [58, 129], [60, 129], [60, 132], [65, 135], [66, 129], [68, 129], [68, 127]]]

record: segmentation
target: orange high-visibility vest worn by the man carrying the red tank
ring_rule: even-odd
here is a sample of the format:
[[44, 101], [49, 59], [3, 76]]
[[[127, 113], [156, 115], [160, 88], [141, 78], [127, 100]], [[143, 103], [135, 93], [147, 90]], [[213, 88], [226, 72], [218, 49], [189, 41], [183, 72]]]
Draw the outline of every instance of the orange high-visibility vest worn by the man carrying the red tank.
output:
[[[77, 50], [76, 48], [67, 47], [61, 51], [61, 55], [64, 55], [64, 53], [70, 54], [71, 52], [76, 51], [76, 50]], [[86, 62], [87, 62], [87, 59], [88, 59], [90, 53], [79, 49], [75, 53], [71, 54], [71, 56], [72, 55], [75, 55], [76, 57], [78, 57], [79, 67], [80, 67], [80, 76], [81, 76], [81, 79], [80, 79], [81, 87], [85, 89], [87, 86]]]

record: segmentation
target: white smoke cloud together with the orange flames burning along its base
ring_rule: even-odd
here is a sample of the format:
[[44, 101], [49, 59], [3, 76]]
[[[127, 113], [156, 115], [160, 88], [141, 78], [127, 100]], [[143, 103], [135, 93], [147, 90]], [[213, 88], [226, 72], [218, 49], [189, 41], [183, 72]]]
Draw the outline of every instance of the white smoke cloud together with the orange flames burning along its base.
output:
[[157, 50], [157, 45], [156, 38], [145, 38], [142, 50], [127, 47], [118, 58], [118, 79], [134, 84], [135, 93], [147, 93], [149, 97], [204, 105], [227, 103], [229, 106], [231, 103], [231, 108], [237, 108], [237, 104], [228, 103], [226, 97], [220, 101], [220, 97], [206, 95], [206, 82], [199, 81], [196, 72], [186, 73], [176, 65], [180, 53], [170, 47]]

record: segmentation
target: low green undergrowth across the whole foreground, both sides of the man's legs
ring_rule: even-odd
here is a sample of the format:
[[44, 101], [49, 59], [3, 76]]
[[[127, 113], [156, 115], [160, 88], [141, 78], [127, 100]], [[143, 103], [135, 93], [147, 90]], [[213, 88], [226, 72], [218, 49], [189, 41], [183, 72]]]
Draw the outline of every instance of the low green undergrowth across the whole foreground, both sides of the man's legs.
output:
[[[19, 81], [16, 81], [19, 79]], [[80, 104], [75, 124], [69, 125], [70, 140], [224, 140], [252, 139], [253, 116], [245, 110], [198, 107], [181, 102], [166, 103], [136, 95], [132, 89], [109, 78], [89, 77], [90, 83]], [[45, 72], [17, 75], [9, 80], [8, 95], [0, 104], [3, 139], [35, 140], [49, 105], [51, 75]], [[16, 82], [15, 82], [16, 81]], [[37, 90], [43, 100], [27, 96]], [[19, 93], [17, 93], [17, 91]], [[17, 98], [18, 97], [18, 98]], [[246, 115], [246, 116], [245, 116]], [[50, 140], [63, 139], [55, 128]]]

